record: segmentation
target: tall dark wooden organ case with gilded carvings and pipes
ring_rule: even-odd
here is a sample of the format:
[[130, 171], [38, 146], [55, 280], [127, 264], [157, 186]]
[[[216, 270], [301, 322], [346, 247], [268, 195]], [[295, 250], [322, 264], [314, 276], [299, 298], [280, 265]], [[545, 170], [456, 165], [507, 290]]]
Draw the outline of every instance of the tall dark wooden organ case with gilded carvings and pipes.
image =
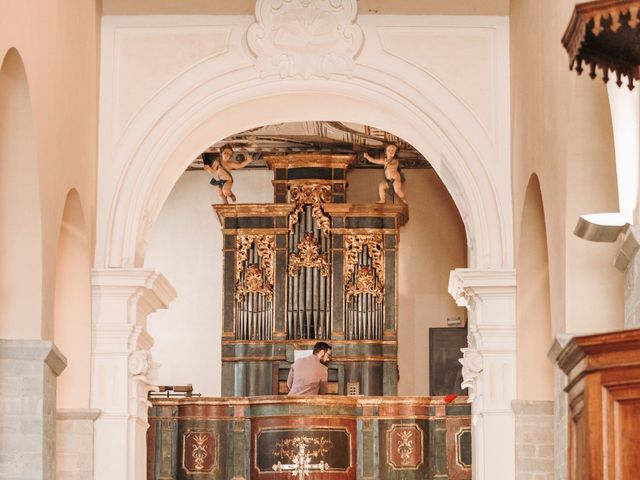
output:
[[274, 203], [213, 206], [224, 236], [222, 395], [286, 393], [295, 350], [319, 340], [332, 346], [331, 393], [396, 395], [407, 206], [346, 203], [353, 155], [266, 161]]

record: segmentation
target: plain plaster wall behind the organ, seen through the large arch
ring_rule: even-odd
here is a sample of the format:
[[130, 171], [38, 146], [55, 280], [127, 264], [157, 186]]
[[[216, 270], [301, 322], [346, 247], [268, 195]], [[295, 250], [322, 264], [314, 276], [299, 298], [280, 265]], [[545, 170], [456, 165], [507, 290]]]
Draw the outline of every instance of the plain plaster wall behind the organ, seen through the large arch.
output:
[[[453, 200], [432, 170], [406, 171], [410, 221], [401, 230], [399, 255], [400, 394], [429, 394], [429, 328], [445, 327], [461, 316], [447, 293], [449, 271], [466, 266], [464, 225]], [[349, 175], [348, 199], [377, 199], [380, 170]], [[162, 271], [178, 292], [168, 310], [149, 317], [160, 363], [158, 384], [192, 383], [196, 392], [220, 394], [222, 314], [222, 233], [212, 203], [218, 203], [210, 176], [186, 172], [165, 203], [154, 227], [147, 262]], [[241, 203], [273, 200], [272, 172], [234, 173]]]

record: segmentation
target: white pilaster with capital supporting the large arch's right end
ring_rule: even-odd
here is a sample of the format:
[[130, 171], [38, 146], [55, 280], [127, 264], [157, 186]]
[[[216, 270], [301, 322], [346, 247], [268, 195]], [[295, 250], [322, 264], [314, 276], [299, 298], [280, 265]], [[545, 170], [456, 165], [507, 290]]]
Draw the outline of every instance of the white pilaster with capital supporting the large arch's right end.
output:
[[474, 480], [515, 478], [516, 272], [453, 270], [449, 293], [467, 307], [469, 346], [464, 386], [472, 401]]

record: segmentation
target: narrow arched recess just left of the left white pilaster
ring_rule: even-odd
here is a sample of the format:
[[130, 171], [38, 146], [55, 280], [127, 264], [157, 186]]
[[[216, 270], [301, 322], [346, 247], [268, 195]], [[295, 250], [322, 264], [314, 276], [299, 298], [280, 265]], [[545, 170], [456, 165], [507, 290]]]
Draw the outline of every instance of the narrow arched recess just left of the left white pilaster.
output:
[[72, 189], [64, 205], [56, 257], [53, 339], [67, 358], [67, 368], [58, 378], [58, 408], [89, 406], [91, 263], [80, 196]]

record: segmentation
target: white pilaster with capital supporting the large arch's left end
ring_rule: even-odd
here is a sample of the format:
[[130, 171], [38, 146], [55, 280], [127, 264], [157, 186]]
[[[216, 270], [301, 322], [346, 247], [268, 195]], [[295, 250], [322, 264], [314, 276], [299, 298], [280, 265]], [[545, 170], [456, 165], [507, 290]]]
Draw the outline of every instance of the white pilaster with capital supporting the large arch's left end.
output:
[[92, 295], [91, 407], [101, 410], [94, 479], [144, 480], [147, 393], [154, 388], [146, 321], [167, 308], [176, 292], [153, 270], [104, 269], [92, 272]]

